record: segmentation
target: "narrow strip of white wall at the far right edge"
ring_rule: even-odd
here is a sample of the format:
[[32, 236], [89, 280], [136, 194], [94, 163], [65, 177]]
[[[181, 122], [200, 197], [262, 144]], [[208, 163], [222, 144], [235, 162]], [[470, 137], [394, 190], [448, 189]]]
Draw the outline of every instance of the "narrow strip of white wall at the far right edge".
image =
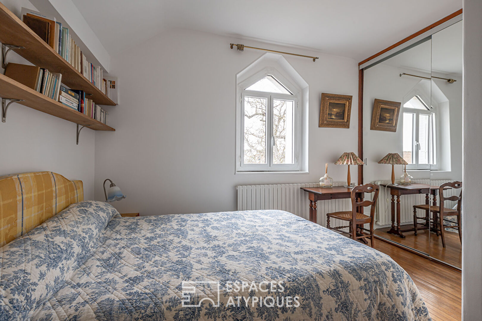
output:
[[464, 0], [462, 320], [482, 320], [482, 1]]

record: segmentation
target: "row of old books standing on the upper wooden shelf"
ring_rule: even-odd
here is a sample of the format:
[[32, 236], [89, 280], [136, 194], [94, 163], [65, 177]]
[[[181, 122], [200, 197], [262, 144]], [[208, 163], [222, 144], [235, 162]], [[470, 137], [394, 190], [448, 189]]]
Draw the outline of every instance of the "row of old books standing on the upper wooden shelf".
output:
[[47, 42], [62, 58], [86, 77], [95, 87], [107, 95], [107, 80], [103, 78], [100, 66], [89, 63], [80, 47], [72, 39], [68, 28], [40, 12], [22, 8], [23, 22], [42, 40]]

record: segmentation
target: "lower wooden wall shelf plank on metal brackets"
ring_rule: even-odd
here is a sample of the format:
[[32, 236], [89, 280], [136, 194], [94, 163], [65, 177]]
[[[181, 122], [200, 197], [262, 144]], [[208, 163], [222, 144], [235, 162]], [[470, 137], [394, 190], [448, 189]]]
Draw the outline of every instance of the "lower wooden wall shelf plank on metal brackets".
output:
[[[115, 129], [95, 120], [87, 115], [80, 113], [79, 111], [67, 107], [66, 105], [56, 102], [53, 99], [42, 95], [40, 92], [28, 88], [27, 86], [0, 74], [0, 97], [2, 98], [12, 98], [12, 99], [23, 99], [24, 102], [18, 102], [27, 107], [40, 110], [41, 112], [56, 116], [76, 124], [89, 124], [94, 130], [110, 130]], [[8, 111], [15, 106], [10, 106]], [[7, 121], [9, 121], [7, 113]]]

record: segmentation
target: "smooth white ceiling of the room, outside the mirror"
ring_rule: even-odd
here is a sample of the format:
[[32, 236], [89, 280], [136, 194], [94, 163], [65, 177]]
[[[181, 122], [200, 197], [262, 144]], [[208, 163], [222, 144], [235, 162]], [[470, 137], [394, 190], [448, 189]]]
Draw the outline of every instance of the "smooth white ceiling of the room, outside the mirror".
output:
[[358, 61], [462, 7], [462, 0], [73, 2], [111, 55], [166, 29], [185, 28], [302, 47]]

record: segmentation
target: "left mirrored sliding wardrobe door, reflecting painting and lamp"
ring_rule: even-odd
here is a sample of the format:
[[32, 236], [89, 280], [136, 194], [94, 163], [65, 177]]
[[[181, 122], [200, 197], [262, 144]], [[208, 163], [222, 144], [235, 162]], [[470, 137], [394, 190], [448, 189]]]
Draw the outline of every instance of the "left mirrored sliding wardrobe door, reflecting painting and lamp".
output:
[[375, 235], [426, 255], [431, 47], [428, 37], [363, 74], [363, 180], [381, 187]]

